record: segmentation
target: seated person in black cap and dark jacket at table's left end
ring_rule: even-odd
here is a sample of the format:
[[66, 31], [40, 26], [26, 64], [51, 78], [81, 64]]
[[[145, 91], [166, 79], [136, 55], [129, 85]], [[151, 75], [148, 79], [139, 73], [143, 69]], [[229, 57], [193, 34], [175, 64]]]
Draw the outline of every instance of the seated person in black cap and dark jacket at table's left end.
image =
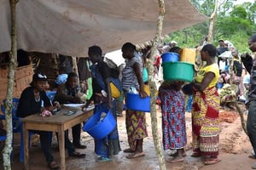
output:
[[[44, 89], [47, 82], [47, 77], [43, 73], [36, 73], [32, 77], [32, 82], [30, 83], [30, 87], [25, 88], [20, 95], [20, 101], [17, 109], [17, 116], [26, 117], [31, 116], [33, 114], [39, 114], [41, 116], [45, 116], [47, 113], [50, 116], [49, 111], [55, 110], [55, 108], [60, 107], [60, 105], [52, 106], [50, 104], [49, 98], [47, 97]], [[44, 101], [44, 105], [42, 107], [42, 101]], [[50, 150], [51, 139], [49, 139], [51, 132], [45, 131], [32, 131], [34, 133], [38, 133], [40, 135], [40, 143], [41, 147], [44, 151], [45, 159], [48, 163], [48, 167], [50, 169], [58, 169], [59, 166], [54, 161], [54, 156]], [[73, 144], [69, 141], [69, 139], [65, 138], [65, 146], [68, 150], [69, 156], [76, 157], [84, 157], [84, 154], [80, 154], [75, 151], [73, 148]]]

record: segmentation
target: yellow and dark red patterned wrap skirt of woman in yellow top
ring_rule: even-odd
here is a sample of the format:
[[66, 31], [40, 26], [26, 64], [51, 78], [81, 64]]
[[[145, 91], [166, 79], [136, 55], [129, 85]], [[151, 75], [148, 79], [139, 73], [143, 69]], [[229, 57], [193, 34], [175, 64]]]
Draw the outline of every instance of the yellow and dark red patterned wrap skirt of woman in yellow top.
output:
[[215, 87], [203, 93], [194, 92], [192, 104], [193, 151], [203, 156], [218, 156], [219, 144], [219, 97]]

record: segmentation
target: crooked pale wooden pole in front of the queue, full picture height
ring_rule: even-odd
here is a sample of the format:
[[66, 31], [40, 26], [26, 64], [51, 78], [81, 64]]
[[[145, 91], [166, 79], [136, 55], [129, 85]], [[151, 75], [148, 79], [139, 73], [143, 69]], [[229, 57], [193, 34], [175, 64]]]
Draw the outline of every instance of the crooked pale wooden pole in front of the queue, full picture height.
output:
[[149, 59], [148, 63], [148, 72], [149, 72], [149, 86], [150, 86], [150, 97], [151, 97], [151, 111], [150, 111], [150, 116], [151, 116], [151, 124], [152, 124], [152, 135], [154, 139], [154, 147], [156, 150], [156, 154], [158, 156], [158, 161], [160, 162], [160, 169], [161, 170], [166, 170], [166, 163], [163, 155], [163, 149], [160, 144], [159, 136], [158, 136], [158, 127], [157, 127], [157, 117], [156, 117], [156, 109], [155, 109], [155, 103], [156, 103], [156, 86], [154, 83], [154, 54], [156, 52], [156, 47], [157, 44], [160, 42], [160, 37], [162, 33], [162, 27], [163, 27], [163, 20], [164, 20], [164, 15], [165, 15], [165, 2], [164, 0], [159, 0], [159, 7], [160, 7], [160, 12], [159, 12], [159, 17], [157, 21], [157, 31], [156, 35], [154, 37], [154, 42], [153, 42], [153, 47], [151, 48], [152, 53], [151, 57]]

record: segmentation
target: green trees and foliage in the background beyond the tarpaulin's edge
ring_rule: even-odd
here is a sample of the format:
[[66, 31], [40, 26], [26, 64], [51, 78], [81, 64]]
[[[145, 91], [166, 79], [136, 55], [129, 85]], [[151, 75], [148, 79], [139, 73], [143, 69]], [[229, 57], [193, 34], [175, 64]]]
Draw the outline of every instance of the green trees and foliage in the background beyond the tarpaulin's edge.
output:
[[[190, 0], [202, 14], [211, 16], [214, 0]], [[218, 40], [229, 40], [239, 53], [250, 52], [248, 38], [256, 33], [256, 1], [241, 3], [240, 0], [218, 0], [218, 11], [214, 25], [212, 43], [218, 46]], [[238, 4], [241, 3], [241, 4]], [[210, 21], [191, 26], [166, 35], [164, 42], [175, 40], [181, 48], [195, 48], [208, 35]]]

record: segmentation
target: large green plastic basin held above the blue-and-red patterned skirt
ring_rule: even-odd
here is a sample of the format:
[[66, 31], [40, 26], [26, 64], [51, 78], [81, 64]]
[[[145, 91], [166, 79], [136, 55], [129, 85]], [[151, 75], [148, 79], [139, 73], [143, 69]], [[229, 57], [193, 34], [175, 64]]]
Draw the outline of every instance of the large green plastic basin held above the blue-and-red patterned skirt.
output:
[[164, 80], [192, 82], [194, 65], [186, 62], [166, 62], [162, 64]]

